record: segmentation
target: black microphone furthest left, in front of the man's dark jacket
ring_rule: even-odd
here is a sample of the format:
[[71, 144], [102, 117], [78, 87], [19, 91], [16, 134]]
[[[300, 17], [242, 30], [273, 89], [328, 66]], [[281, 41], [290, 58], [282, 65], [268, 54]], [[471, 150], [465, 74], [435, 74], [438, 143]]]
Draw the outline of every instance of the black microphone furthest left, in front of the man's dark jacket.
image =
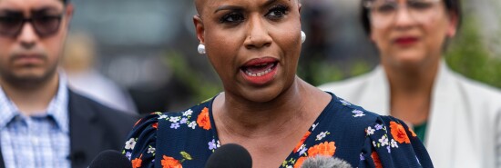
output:
[[92, 160], [88, 168], [132, 168], [132, 163], [122, 153], [114, 150], [103, 151]]

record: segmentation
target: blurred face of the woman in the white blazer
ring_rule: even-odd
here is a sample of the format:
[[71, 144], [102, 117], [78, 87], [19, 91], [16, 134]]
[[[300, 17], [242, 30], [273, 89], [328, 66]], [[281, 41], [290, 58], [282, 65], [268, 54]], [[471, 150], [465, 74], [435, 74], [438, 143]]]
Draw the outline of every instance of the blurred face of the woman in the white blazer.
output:
[[374, 0], [369, 14], [371, 39], [391, 66], [436, 64], [445, 39], [455, 35], [457, 17], [441, 0]]

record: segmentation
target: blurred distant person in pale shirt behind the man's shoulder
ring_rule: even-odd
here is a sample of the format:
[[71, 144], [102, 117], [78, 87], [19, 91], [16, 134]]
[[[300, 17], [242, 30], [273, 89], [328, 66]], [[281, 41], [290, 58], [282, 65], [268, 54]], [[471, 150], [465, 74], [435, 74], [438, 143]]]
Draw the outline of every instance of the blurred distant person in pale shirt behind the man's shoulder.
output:
[[73, 33], [66, 39], [63, 67], [69, 86], [101, 104], [122, 112], [137, 113], [128, 92], [96, 69], [96, 45], [90, 35]]

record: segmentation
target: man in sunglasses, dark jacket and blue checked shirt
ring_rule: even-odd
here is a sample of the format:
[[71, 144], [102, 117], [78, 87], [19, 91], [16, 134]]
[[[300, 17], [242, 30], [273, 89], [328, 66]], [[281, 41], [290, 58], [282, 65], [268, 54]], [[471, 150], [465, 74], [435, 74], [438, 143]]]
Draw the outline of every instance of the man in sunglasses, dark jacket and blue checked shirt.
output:
[[0, 167], [87, 167], [134, 124], [57, 71], [72, 15], [66, 0], [0, 0]]

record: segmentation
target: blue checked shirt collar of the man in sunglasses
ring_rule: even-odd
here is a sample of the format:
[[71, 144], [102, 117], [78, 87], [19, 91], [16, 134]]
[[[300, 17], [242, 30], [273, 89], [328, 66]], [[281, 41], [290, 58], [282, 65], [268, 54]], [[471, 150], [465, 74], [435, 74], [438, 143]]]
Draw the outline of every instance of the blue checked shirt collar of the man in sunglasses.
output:
[[[60, 72], [56, 96], [52, 98], [46, 108], [46, 115], [52, 116], [63, 133], [69, 133], [68, 119], [68, 90], [66, 74]], [[20, 115], [17, 106], [5, 95], [0, 87], [0, 129]]]

